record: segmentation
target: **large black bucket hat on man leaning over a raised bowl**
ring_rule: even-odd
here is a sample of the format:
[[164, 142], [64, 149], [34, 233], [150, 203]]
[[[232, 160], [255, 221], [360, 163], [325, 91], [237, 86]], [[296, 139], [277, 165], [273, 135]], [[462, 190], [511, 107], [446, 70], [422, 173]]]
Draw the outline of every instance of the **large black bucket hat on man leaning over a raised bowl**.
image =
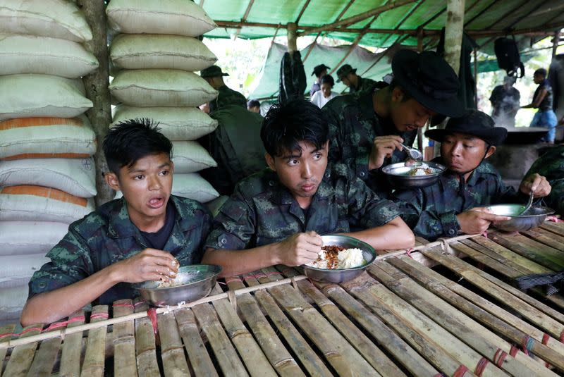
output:
[[415, 101], [444, 116], [462, 116], [458, 77], [434, 51], [421, 54], [403, 49], [392, 59], [393, 78]]

